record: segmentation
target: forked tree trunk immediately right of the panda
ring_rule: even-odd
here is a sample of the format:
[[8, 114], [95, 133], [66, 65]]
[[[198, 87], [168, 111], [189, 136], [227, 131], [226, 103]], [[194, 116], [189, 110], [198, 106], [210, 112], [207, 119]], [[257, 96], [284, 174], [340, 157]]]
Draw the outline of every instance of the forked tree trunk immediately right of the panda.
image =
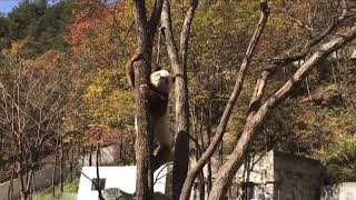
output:
[[191, 0], [182, 30], [180, 33], [180, 50], [178, 54], [171, 27], [171, 14], [168, 0], [165, 0], [161, 22], [165, 27], [166, 47], [171, 67], [176, 74], [176, 137], [174, 148], [172, 169], [172, 197], [179, 199], [180, 191], [186, 180], [189, 164], [189, 103], [187, 86], [187, 52], [190, 36], [190, 27], [198, 0]]

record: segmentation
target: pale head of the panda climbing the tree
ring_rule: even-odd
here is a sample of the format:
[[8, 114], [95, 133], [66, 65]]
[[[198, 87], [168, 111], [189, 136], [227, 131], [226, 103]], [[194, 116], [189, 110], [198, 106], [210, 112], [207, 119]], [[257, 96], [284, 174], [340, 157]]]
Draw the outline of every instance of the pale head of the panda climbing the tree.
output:
[[167, 70], [158, 70], [150, 74], [150, 80], [158, 91], [169, 93], [175, 83], [175, 76]]

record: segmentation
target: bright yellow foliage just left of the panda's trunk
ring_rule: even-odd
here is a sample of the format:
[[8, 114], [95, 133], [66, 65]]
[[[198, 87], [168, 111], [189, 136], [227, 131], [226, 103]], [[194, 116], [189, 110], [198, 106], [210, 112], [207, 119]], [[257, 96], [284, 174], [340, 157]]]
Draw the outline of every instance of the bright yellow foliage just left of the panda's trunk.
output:
[[117, 74], [109, 69], [98, 70], [89, 76], [92, 81], [82, 97], [80, 118], [110, 127], [129, 123], [135, 112], [132, 92], [118, 88]]

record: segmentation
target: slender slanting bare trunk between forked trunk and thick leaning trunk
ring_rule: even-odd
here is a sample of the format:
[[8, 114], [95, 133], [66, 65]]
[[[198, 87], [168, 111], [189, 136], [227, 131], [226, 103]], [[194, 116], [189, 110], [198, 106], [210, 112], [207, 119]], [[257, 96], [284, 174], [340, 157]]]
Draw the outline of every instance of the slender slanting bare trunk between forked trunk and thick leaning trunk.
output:
[[226, 126], [228, 123], [228, 120], [230, 118], [230, 114], [234, 110], [234, 107], [236, 104], [237, 98], [240, 94], [241, 88], [243, 88], [243, 83], [245, 80], [245, 74], [246, 74], [246, 70], [249, 67], [250, 60], [253, 58], [254, 51], [257, 47], [257, 43], [259, 41], [259, 38], [263, 33], [263, 30], [265, 28], [265, 24], [267, 22], [268, 19], [268, 12], [261, 12], [260, 14], [260, 19], [259, 22], [257, 24], [257, 28], [255, 30], [255, 33], [251, 38], [251, 41], [247, 48], [247, 52], [245, 56], [245, 59], [243, 61], [243, 64], [240, 67], [240, 70], [237, 74], [237, 79], [236, 79], [236, 83], [233, 90], [233, 93], [230, 96], [230, 99], [224, 110], [220, 123], [217, 128], [217, 131], [215, 133], [215, 137], [212, 138], [209, 147], [207, 148], [207, 150], [202, 153], [201, 158], [198, 160], [197, 164], [195, 167], [192, 167], [186, 178], [186, 181], [184, 183], [181, 193], [180, 193], [180, 200], [188, 200], [189, 196], [190, 196], [190, 190], [192, 187], [192, 183], [195, 181], [195, 179], [197, 178], [199, 171], [202, 170], [204, 166], [210, 160], [211, 156], [214, 154], [216, 148], [218, 147], [218, 144], [220, 143], [220, 141], [222, 140], [222, 136], [225, 133], [226, 130]]

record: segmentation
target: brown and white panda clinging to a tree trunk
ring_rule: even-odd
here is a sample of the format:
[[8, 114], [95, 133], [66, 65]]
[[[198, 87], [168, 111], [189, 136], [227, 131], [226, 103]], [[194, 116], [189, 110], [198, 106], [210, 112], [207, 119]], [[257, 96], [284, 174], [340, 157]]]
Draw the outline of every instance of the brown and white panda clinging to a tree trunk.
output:
[[[126, 64], [126, 73], [129, 84], [135, 88], [134, 62], [140, 60], [142, 54], [135, 52]], [[158, 70], [150, 74], [148, 84], [142, 84], [139, 91], [148, 100], [155, 140], [158, 147], [154, 150], [152, 169], [158, 169], [167, 162], [170, 157], [171, 134], [169, 130], [169, 92], [175, 83], [175, 76], [167, 70]], [[135, 128], [137, 129], [137, 118], [135, 117]]]

